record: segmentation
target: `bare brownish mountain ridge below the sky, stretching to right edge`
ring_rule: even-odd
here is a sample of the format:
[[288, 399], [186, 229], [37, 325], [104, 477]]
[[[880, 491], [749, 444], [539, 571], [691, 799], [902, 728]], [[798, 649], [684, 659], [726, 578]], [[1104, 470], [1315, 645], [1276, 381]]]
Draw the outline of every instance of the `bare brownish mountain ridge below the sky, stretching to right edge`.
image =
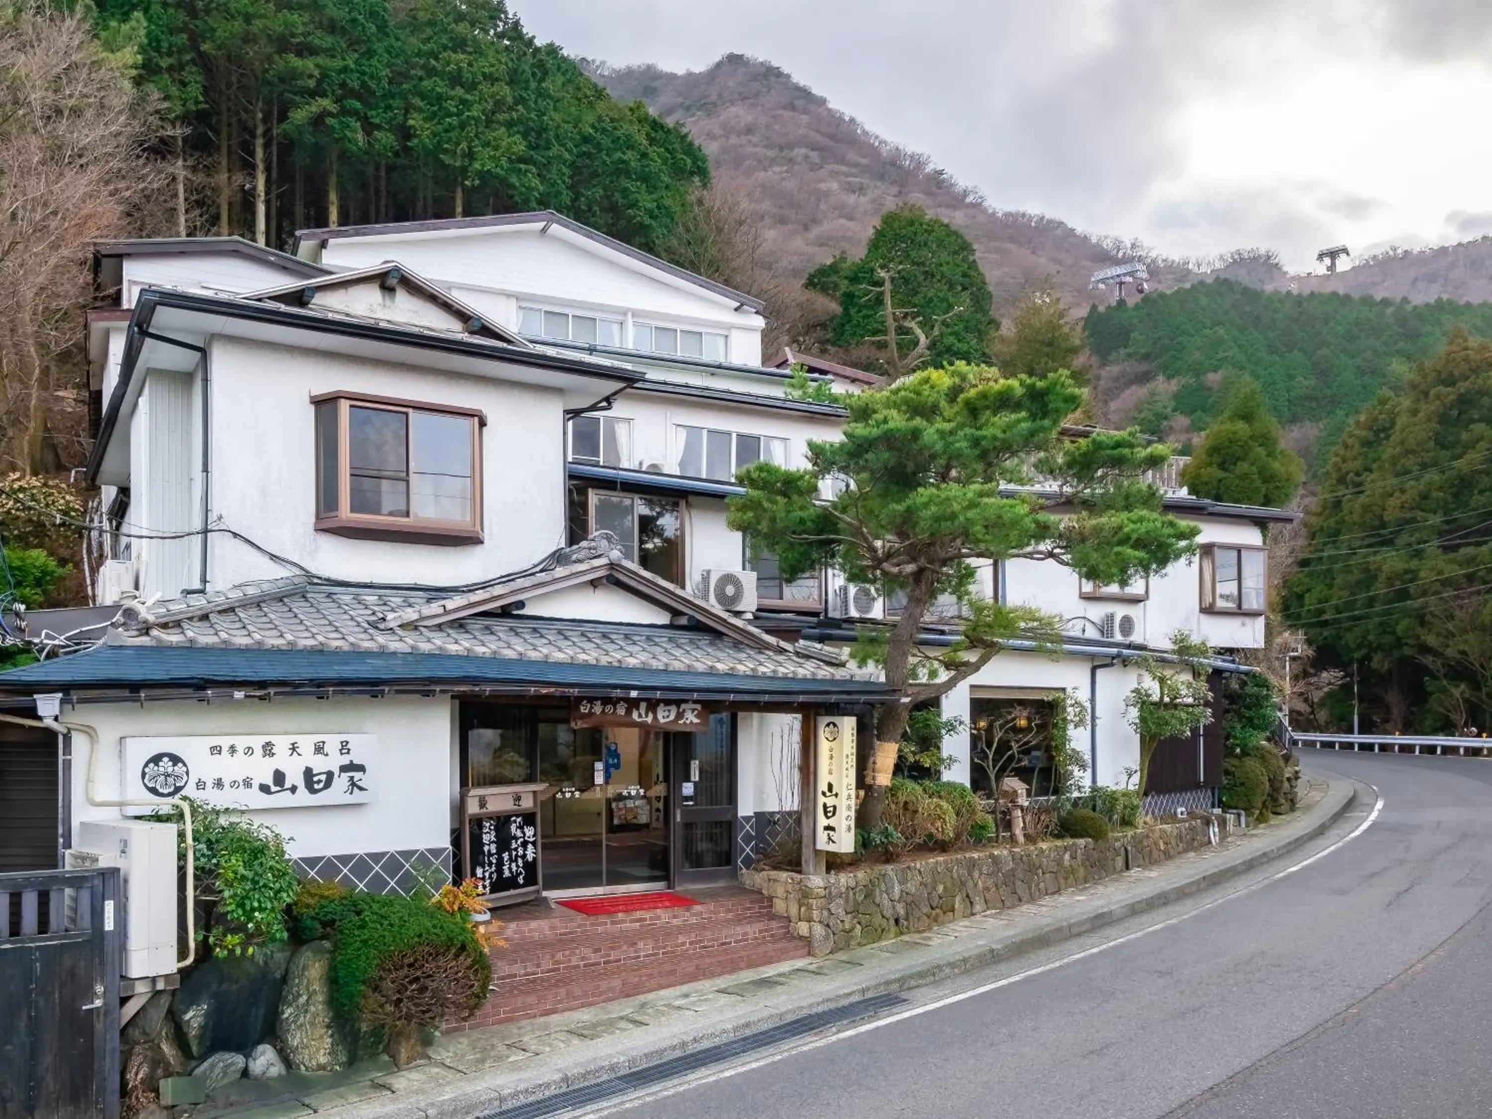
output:
[[728, 54], [706, 70], [586, 64], [621, 100], [642, 100], [688, 127], [718, 179], [745, 186], [759, 206], [767, 248], [792, 275], [859, 254], [880, 215], [913, 201], [964, 231], [1004, 315], [1050, 285], [1074, 312], [1092, 301], [1088, 278], [1141, 258], [1158, 289], [1235, 279], [1271, 291], [1340, 291], [1379, 298], [1492, 300], [1492, 237], [1367, 257], [1335, 276], [1292, 276], [1273, 254], [1226, 254], [1204, 267], [1167, 260], [1135, 242], [1097, 237], [1038, 213], [1000, 210], [928, 157], [876, 136], [771, 63]]

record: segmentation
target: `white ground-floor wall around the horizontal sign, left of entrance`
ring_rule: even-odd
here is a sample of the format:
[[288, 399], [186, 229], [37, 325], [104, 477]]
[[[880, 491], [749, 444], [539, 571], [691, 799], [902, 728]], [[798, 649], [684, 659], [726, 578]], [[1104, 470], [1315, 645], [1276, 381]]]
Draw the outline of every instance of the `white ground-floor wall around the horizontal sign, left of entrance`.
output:
[[[376, 734], [377, 800], [369, 804], [258, 810], [252, 819], [285, 836], [292, 858], [360, 850], [448, 847], [452, 819], [454, 715], [448, 697], [349, 697], [333, 700], [148, 701], [88, 704], [69, 721], [98, 731], [95, 798], [116, 800], [125, 736]], [[88, 803], [88, 740], [73, 736], [73, 827], [118, 819], [121, 809]]]

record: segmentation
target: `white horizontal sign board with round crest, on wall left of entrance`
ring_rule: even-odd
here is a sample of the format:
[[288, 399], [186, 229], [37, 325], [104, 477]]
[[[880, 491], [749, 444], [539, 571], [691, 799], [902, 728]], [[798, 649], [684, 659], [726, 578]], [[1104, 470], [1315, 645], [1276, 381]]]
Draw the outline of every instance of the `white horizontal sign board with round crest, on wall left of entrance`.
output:
[[376, 734], [197, 734], [122, 742], [127, 800], [192, 797], [224, 809], [319, 809], [367, 804], [377, 792]]

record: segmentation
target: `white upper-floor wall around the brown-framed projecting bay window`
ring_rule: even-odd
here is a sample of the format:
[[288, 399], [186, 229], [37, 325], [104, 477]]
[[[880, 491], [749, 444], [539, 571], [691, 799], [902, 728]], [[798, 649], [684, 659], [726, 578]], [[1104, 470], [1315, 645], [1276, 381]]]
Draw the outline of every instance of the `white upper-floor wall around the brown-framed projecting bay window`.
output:
[[[564, 543], [564, 418], [558, 391], [239, 339], [213, 339], [210, 352], [212, 513], [263, 548], [340, 579], [463, 583], [518, 570]], [[337, 389], [486, 413], [482, 543], [354, 540], [313, 528], [310, 397]], [[213, 588], [283, 573], [242, 542], [213, 534]]]

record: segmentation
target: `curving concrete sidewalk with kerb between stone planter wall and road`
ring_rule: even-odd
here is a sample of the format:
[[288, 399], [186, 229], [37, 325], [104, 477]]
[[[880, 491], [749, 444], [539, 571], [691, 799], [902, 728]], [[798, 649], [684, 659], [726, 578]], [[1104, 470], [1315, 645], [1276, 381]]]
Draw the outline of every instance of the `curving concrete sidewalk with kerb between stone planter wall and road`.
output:
[[[1294, 815], [1159, 867], [818, 961], [451, 1034], [437, 1038], [430, 1061], [401, 1071], [383, 1061], [324, 1077], [292, 1076], [294, 1083], [279, 1089], [292, 1091], [292, 1100], [233, 1110], [207, 1104], [194, 1116], [471, 1119], [859, 998], [986, 967], [1220, 885], [1316, 839], [1347, 812], [1356, 786], [1307, 776], [1310, 791]], [[276, 1085], [260, 1083], [261, 1091]]]

